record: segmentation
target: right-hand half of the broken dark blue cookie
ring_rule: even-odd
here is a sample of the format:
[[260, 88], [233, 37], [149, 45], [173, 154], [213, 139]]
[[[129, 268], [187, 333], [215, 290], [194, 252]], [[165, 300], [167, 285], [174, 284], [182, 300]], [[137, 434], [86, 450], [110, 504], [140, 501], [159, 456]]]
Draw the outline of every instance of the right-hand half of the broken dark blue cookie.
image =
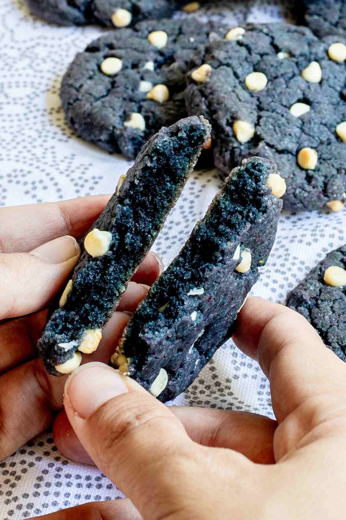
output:
[[[271, 173], [277, 173], [276, 165], [260, 158], [233, 170], [124, 331], [118, 353], [130, 359], [132, 378], [150, 389], [160, 369], [167, 372], [161, 401], [183, 392], [232, 335], [275, 238], [282, 200], [266, 184]], [[251, 253], [247, 272], [234, 270], [241, 261], [238, 246], [240, 255]]]

